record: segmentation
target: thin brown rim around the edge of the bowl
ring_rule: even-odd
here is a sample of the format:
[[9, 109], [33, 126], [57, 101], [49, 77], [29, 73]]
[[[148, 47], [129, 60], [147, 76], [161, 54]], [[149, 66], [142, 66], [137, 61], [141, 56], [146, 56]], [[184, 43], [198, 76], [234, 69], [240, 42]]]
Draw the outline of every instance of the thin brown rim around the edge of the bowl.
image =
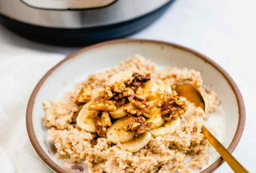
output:
[[[102, 43], [98, 43], [98, 44], [94, 44], [94, 45], [82, 48], [81, 50], [68, 55], [65, 59], [63, 59], [62, 61], [60, 61], [56, 65], [54, 65], [54, 67], [52, 67], [49, 71], [47, 71], [45, 73], [45, 75], [39, 80], [39, 82], [35, 86], [32, 94], [30, 95], [28, 105], [27, 105], [27, 111], [26, 111], [27, 133], [28, 133], [30, 142], [33, 145], [35, 151], [40, 156], [40, 158], [47, 164], [47, 166], [49, 166], [52, 170], [54, 170], [56, 172], [68, 173], [67, 170], [61, 168], [57, 163], [55, 163], [45, 153], [45, 151], [42, 149], [41, 145], [37, 141], [35, 131], [34, 131], [34, 128], [33, 128], [33, 107], [34, 107], [35, 97], [36, 97], [39, 89], [41, 88], [41, 86], [43, 85], [43, 83], [47, 79], [47, 77], [49, 77], [54, 70], [56, 70], [58, 67], [60, 67], [66, 61], [71, 60], [74, 57], [76, 57], [77, 55], [82, 54], [86, 51], [92, 50], [94, 48], [102, 47], [102, 46], [106, 46], [106, 45], [115, 45], [115, 44], [120, 44], [120, 43], [140, 43], [140, 44], [142, 44], [142, 43], [153, 43], [153, 44], [160, 44], [160, 45], [167, 45], [167, 46], [176, 47], [176, 48], [179, 48], [183, 51], [187, 51], [187, 52], [190, 52], [190, 53], [193, 53], [193, 54], [197, 55], [198, 57], [203, 59], [205, 61], [205, 63], [209, 63], [215, 69], [217, 69], [222, 74], [222, 76], [225, 77], [225, 79], [228, 81], [230, 87], [233, 89], [233, 92], [236, 95], [236, 100], [237, 100], [237, 104], [238, 104], [239, 120], [238, 120], [238, 125], [237, 125], [235, 136], [234, 136], [233, 140], [231, 141], [230, 145], [228, 146], [228, 151], [229, 152], [232, 153], [235, 150], [238, 142], [240, 141], [240, 139], [242, 137], [243, 130], [244, 130], [245, 105], [244, 105], [242, 94], [241, 94], [238, 86], [235, 84], [235, 81], [228, 75], [226, 70], [224, 70], [222, 67], [220, 67], [219, 64], [217, 64], [216, 62], [211, 60], [209, 57], [207, 57], [207, 56], [205, 56], [205, 55], [203, 55], [203, 54], [201, 54], [197, 51], [194, 51], [194, 50], [192, 50], [188, 47], [185, 47], [185, 46], [181, 46], [181, 45], [177, 45], [177, 44], [169, 43], [169, 42], [164, 42], [164, 41], [159, 41], [159, 40], [150, 40], [150, 39], [115, 39], [115, 40], [110, 40], [110, 41], [107, 41], [107, 42], [102, 42]], [[204, 172], [204, 173], [205, 172], [212, 172], [213, 170], [217, 169], [222, 163], [223, 163], [223, 159], [220, 157], [219, 159], [217, 159], [217, 161], [212, 163], [209, 167], [207, 167], [206, 169], [204, 169], [201, 172]]]

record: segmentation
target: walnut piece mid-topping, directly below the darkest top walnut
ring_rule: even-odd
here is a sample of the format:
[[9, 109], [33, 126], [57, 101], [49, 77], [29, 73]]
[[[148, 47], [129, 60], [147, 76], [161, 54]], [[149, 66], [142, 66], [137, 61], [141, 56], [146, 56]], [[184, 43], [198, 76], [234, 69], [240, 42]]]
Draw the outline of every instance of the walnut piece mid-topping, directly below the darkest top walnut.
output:
[[150, 109], [149, 104], [146, 102], [146, 98], [141, 95], [132, 94], [128, 97], [128, 100], [143, 111], [148, 112]]

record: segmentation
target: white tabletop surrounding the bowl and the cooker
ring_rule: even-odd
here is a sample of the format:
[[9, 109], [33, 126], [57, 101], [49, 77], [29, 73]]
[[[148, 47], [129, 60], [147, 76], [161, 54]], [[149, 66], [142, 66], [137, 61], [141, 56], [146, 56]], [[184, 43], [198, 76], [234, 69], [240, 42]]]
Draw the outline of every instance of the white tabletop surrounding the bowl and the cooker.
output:
[[[234, 156], [250, 172], [256, 171], [255, 5], [254, 1], [177, 0], [158, 21], [132, 36], [194, 48], [228, 71], [241, 89], [246, 105], [244, 134]], [[30, 42], [0, 26], [1, 171], [49, 171], [28, 140], [26, 105], [43, 74], [77, 49]], [[232, 171], [223, 163], [215, 172]]]

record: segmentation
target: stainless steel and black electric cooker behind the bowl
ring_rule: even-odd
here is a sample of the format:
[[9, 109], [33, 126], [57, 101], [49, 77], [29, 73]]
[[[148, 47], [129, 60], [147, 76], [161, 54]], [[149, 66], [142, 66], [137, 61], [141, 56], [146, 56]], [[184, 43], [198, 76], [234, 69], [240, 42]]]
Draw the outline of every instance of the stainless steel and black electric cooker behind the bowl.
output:
[[145, 28], [172, 0], [1, 0], [0, 22], [49, 44], [84, 45]]

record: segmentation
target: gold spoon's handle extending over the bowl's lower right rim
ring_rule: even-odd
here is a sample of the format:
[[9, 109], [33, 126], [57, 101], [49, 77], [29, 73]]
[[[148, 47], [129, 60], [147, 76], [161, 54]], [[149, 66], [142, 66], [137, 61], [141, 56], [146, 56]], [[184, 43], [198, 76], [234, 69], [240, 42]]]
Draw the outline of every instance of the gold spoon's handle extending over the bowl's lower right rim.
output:
[[225, 160], [228, 165], [235, 171], [235, 172], [248, 172], [235, 158], [232, 156], [228, 150], [215, 138], [210, 131], [208, 131], [204, 126], [202, 127], [202, 133], [204, 134], [205, 138], [212, 144], [215, 150], [221, 155], [223, 160]]

